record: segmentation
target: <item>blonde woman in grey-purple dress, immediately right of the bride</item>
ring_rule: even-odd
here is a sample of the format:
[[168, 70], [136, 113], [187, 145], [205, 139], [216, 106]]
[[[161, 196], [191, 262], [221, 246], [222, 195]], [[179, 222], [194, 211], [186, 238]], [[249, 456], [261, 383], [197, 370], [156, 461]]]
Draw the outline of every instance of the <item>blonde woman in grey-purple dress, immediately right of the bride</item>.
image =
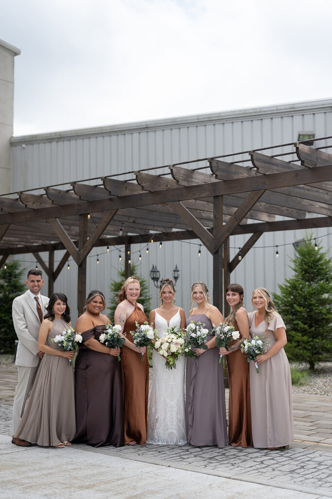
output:
[[[192, 308], [186, 325], [192, 320], [202, 322], [205, 328], [223, 321], [217, 307], [209, 305], [209, 290], [204, 282], [192, 285]], [[186, 380], [186, 430], [188, 444], [195, 446], [217, 445], [225, 447], [227, 423], [223, 369], [219, 364], [216, 338], [208, 335], [208, 350], [195, 348], [196, 357], [187, 359]]]

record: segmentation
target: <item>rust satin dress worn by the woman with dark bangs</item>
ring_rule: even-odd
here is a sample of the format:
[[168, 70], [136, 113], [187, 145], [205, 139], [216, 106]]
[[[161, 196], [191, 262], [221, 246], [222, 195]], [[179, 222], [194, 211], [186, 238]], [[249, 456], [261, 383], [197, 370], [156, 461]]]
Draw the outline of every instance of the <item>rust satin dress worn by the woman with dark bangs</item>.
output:
[[[238, 330], [236, 320], [235, 331]], [[234, 340], [230, 343], [236, 343]], [[228, 443], [236, 446], [253, 446], [251, 434], [249, 362], [241, 349], [227, 355], [229, 403], [228, 403]]]

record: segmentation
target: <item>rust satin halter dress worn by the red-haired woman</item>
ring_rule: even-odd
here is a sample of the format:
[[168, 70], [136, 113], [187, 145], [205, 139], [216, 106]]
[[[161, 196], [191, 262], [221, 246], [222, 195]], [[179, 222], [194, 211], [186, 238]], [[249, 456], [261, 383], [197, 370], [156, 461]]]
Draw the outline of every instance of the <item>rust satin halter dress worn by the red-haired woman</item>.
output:
[[[127, 301], [128, 298], [126, 298]], [[129, 301], [131, 303], [131, 301]], [[147, 316], [137, 303], [131, 303], [135, 308], [124, 324], [123, 332], [126, 338], [133, 343], [130, 331], [136, 331], [136, 324], [144, 324]], [[124, 444], [133, 440], [139, 445], [146, 443], [147, 407], [149, 393], [149, 358], [144, 354], [141, 362], [141, 354], [130, 348], [121, 348], [121, 377], [124, 409]]]

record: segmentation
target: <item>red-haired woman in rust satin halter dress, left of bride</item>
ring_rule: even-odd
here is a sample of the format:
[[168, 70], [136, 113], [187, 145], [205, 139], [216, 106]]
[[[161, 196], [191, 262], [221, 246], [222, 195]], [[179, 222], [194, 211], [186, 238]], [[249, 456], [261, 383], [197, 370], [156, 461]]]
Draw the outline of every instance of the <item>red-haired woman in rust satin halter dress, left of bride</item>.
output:
[[[147, 404], [149, 390], [149, 359], [147, 348], [136, 347], [130, 331], [136, 331], [136, 324], [147, 321], [140, 303], [140, 285], [136, 277], [128, 277], [119, 292], [114, 313], [115, 324], [120, 324], [126, 333], [121, 348], [122, 390], [124, 407], [124, 444], [144, 445], [146, 443]], [[141, 354], [144, 361], [141, 362]]]

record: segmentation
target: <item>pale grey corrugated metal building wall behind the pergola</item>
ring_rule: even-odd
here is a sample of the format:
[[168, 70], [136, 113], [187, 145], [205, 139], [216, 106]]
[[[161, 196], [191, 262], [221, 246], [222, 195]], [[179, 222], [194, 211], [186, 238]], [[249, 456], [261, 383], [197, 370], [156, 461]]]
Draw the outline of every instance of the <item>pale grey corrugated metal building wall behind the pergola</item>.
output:
[[[302, 130], [313, 130], [316, 137], [332, 135], [332, 100], [15, 137], [11, 144], [12, 191], [295, 142], [298, 132]], [[319, 143], [319, 146], [324, 145], [327, 145], [324, 141]], [[294, 147], [289, 146], [283, 152], [293, 150]], [[270, 152], [267, 150], [266, 154]], [[226, 161], [247, 158], [246, 154], [236, 158], [230, 156]], [[294, 156], [289, 159], [294, 159]], [[197, 163], [188, 166], [197, 167]], [[152, 170], [149, 173], [166, 171], [167, 169]], [[129, 180], [133, 178], [133, 174], [119, 178]], [[328, 229], [317, 230], [315, 236], [327, 236], [330, 232], [332, 231]], [[239, 263], [231, 280], [243, 285], [247, 307], [250, 307], [249, 295], [254, 287], [264, 285], [271, 291], [277, 291], [277, 284], [283, 283], [291, 275], [288, 267], [289, 258], [294, 254], [291, 243], [302, 237], [299, 231], [266, 234]], [[230, 246], [234, 248], [230, 250], [231, 258], [247, 238], [248, 236], [231, 237]], [[331, 247], [331, 235], [323, 237], [321, 241], [325, 248]], [[199, 247], [193, 244], [198, 244], [199, 241], [190, 243], [164, 242], [161, 250], [159, 243], [153, 243], [149, 245], [148, 254], [143, 246], [132, 248], [133, 261], [138, 261], [139, 250], [142, 250], [140, 273], [149, 281], [153, 263], [157, 265], [161, 276], [171, 276], [175, 264], [178, 264], [181, 276], [177, 286], [177, 304], [186, 311], [189, 309], [190, 286], [193, 281], [207, 281], [212, 294], [212, 256], [202, 247], [202, 256], [199, 258]], [[283, 247], [284, 244], [289, 245]], [[275, 257], [276, 245], [279, 246], [279, 258]], [[272, 248], [260, 248], [267, 246]], [[57, 252], [55, 259], [59, 261], [62, 254]], [[99, 265], [96, 263], [97, 254]], [[47, 261], [47, 254], [42, 256]], [[35, 265], [32, 255], [20, 256], [19, 259], [26, 268]], [[72, 260], [70, 263], [70, 270], [65, 266], [58, 277], [55, 290], [63, 291], [69, 296], [75, 319], [77, 271], [75, 263]], [[119, 265], [118, 250], [110, 253], [106, 252], [106, 248], [93, 250], [88, 258], [87, 289], [99, 287], [109, 299], [109, 284], [116, 277]], [[45, 287], [46, 285], [47, 280]], [[152, 283], [151, 294], [154, 307], [158, 303], [158, 291]]]

